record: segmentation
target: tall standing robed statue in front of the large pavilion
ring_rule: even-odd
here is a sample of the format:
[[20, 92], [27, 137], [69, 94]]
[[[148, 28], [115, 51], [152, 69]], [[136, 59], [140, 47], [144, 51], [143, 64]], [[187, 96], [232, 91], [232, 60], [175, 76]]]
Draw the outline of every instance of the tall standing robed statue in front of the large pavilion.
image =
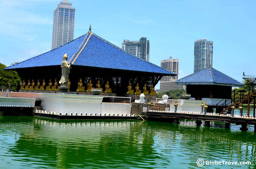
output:
[[68, 74], [70, 71], [70, 64], [67, 62], [68, 54], [63, 55], [63, 61], [61, 62], [61, 78], [60, 78], [60, 88], [68, 88]]

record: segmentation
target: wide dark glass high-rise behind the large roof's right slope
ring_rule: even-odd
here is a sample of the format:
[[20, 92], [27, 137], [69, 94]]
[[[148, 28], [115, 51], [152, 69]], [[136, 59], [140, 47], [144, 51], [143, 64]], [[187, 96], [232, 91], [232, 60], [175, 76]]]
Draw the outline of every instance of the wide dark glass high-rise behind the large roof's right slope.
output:
[[145, 61], [149, 61], [149, 40], [147, 37], [141, 37], [139, 41], [124, 40], [122, 49]]

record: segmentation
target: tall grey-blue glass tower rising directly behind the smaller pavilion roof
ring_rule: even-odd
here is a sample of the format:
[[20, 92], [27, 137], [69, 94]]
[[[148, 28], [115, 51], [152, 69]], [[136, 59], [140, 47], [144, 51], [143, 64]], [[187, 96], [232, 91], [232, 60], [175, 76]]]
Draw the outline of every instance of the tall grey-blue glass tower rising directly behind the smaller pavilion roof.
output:
[[213, 41], [204, 38], [194, 43], [194, 73], [213, 65]]

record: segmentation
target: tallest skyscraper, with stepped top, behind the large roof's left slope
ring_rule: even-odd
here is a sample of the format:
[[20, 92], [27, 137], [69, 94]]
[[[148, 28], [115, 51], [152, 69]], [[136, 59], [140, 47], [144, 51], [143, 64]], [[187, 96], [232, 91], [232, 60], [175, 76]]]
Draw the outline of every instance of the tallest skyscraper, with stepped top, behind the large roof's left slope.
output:
[[75, 8], [72, 3], [63, 0], [58, 4], [53, 16], [52, 49], [74, 39]]

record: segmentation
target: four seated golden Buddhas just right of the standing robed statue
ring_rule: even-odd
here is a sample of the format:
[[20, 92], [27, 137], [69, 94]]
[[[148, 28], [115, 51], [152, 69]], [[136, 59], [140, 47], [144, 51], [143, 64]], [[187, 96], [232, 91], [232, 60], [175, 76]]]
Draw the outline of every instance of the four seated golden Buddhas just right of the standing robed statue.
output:
[[[77, 92], [91, 92], [91, 89], [94, 88], [92, 84], [92, 80], [89, 79], [89, 83], [87, 84], [87, 89], [85, 90], [85, 87], [83, 86], [82, 79], [79, 79], [78, 85], [77, 85]], [[100, 88], [103, 91], [103, 88], [101, 87], [100, 80], [97, 81], [96, 88]], [[105, 84], [105, 93], [112, 93], [112, 89], [109, 86], [109, 81], [107, 81], [107, 84]]]

